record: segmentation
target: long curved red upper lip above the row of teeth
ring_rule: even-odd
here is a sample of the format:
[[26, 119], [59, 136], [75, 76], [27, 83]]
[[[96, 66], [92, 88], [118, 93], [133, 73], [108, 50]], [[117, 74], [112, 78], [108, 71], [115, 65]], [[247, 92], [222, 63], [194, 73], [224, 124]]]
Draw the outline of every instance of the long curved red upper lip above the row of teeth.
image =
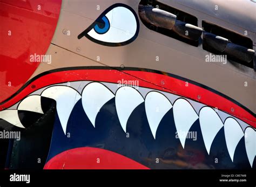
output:
[[[210, 107], [217, 107], [219, 110], [238, 117], [238, 119], [250, 124], [252, 127], [256, 127], [255, 114], [250, 112], [250, 110], [246, 109], [244, 106], [241, 106], [239, 103], [235, 103], [231, 98], [220, 93], [214, 93], [212, 89], [207, 88], [206, 86], [199, 86], [199, 84], [196, 85], [196, 83], [192, 81], [185, 79], [181, 80], [181, 78], [174, 78], [169, 74], [165, 75], [160, 74], [159, 72], [136, 70], [125, 70], [120, 72], [119, 70], [113, 70], [112, 68], [106, 69], [104, 67], [73, 67], [39, 74], [24, 85], [12, 96], [12, 98], [0, 103], [0, 110], [9, 108], [28, 94], [45, 86], [82, 80], [118, 84], [118, 81], [122, 79], [127, 81], [138, 80], [140, 87], [169, 92], [201, 102]], [[161, 80], [164, 80], [164, 84], [163, 82], [161, 84]], [[189, 82], [190, 86], [185, 86], [186, 81]]]

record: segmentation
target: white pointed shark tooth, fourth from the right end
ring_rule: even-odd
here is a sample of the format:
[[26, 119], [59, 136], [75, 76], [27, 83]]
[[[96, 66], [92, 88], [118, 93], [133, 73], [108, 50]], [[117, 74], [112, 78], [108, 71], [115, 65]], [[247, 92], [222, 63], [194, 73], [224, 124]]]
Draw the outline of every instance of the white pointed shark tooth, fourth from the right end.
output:
[[198, 115], [191, 104], [185, 99], [178, 99], [173, 104], [173, 117], [182, 147], [185, 146], [186, 135]]

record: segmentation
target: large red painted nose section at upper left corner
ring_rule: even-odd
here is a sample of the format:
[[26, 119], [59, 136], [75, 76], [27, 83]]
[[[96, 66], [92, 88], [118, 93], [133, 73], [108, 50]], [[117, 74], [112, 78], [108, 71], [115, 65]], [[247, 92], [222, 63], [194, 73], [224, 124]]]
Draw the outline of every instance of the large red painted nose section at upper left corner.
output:
[[29, 80], [40, 61], [31, 55], [46, 53], [60, 13], [61, 0], [0, 1], [0, 102]]

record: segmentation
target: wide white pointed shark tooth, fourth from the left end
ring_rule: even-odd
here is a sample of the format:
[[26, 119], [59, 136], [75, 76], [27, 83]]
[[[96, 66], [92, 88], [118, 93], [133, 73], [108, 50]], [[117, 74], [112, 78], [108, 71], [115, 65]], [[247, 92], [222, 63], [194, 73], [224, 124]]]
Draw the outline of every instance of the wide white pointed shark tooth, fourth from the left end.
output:
[[92, 82], [85, 86], [82, 93], [82, 105], [93, 127], [95, 127], [96, 116], [100, 108], [112, 98], [114, 94], [103, 84]]

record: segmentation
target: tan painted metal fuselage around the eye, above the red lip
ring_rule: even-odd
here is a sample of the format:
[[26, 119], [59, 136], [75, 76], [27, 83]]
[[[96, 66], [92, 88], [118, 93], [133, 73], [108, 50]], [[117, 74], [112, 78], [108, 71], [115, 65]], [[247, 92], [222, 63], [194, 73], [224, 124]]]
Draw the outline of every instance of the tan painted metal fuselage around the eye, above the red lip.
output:
[[[124, 3], [136, 11], [138, 17], [139, 2], [139, 0], [119, 1], [119, 3]], [[81, 32], [94, 23], [100, 14], [113, 4], [112, 1], [75, 1], [72, 3], [70, 1], [63, 1], [61, 18], [56, 28], [56, 34], [52, 39], [52, 43], [55, 46], [52, 46], [49, 51], [49, 54], [52, 54], [52, 59], [56, 58], [56, 60], [52, 60], [51, 65], [45, 63], [41, 64], [31, 78], [44, 71], [61, 67], [63, 66], [63, 62], [65, 62], [66, 67], [81, 66], [81, 64], [84, 64], [82, 66], [103, 65], [111, 67], [123, 66], [124, 68], [147, 68], [176, 74], [180, 77], [207, 85], [210, 88], [230, 96], [230, 98], [240, 102], [254, 113], [256, 112], [256, 105], [252, 102], [254, 98], [253, 93], [256, 88], [255, 72], [252, 68], [240, 66], [228, 60], [225, 65], [223, 63], [206, 63], [205, 56], [210, 53], [203, 50], [201, 45], [198, 47], [191, 46], [177, 39], [152, 32], [147, 29], [140, 19], [138, 37], [129, 45], [108, 47], [94, 43], [85, 37], [83, 39], [77, 39], [77, 36]], [[227, 27], [234, 32], [240, 34], [244, 33], [244, 28], [241, 29], [227, 22], [223, 23], [222, 19], [210, 17], [200, 11], [187, 8], [174, 1], [170, 1], [169, 4], [174, 8], [196, 16], [200, 28], [202, 27], [202, 20], [208, 20], [214, 24]], [[221, 2], [219, 2], [219, 5], [220, 4]], [[255, 6], [254, 4], [252, 3], [252, 6]], [[97, 9], [98, 5], [99, 10]], [[221, 11], [223, 10], [221, 9]], [[70, 36], [63, 34], [64, 29], [70, 31]], [[255, 41], [253, 36], [253, 32], [248, 30], [247, 37]], [[78, 47], [80, 49], [79, 52], [77, 51]], [[57, 54], [55, 54], [55, 52], [57, 52]], [[63, 54], [76, 54], [77, 56], [86, 57], [87, 59], [81, 59], [77, 62], [74, 60], [70, 63], [66, 57], [61, 56]], [[156, 57], [159, 57], [159, 61], [156, 61]], [[81, 63], [81, 61], [83, 61], [83, 63]], [[94, 65], [92, 65], [91, 61], [94, 62]], [[134, 76], [138, 77], [139, 75], [134, 74]], [[234, 82], [236, 82], [236, 84], [234, 84]], [[245, 82], [251, 86], [245, 87]], [[161, 80], [156, 80], [153, 83], [165, 87], [165, 85], [161, 84]]]

